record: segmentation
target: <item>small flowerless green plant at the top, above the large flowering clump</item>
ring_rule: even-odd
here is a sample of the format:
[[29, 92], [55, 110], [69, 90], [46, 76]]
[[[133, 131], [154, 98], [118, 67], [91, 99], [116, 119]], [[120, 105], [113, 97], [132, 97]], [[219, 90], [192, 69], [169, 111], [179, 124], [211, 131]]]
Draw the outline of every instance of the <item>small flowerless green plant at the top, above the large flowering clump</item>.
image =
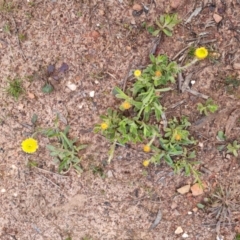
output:
[[179, 23], [177, 14], [163, 14], [156, 20], [156, 25], [159, 29], [150, 32], [153, 36], [157, 36], [160, 32], [164, 32], [167, 36], [171, 37], [173, 28]]

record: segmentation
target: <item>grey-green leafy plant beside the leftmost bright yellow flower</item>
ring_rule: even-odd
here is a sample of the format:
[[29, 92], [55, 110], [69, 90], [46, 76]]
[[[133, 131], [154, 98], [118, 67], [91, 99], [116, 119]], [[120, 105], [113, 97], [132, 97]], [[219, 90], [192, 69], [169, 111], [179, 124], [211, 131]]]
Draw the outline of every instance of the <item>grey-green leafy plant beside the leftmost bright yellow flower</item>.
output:
[[79, 166], [81, 158], [79, 157], [79, 151], [86, 148], [87, 145], [76, 145], [76, 139], [70, 139], [68, 137], [70, 127], [67, 126], [64, 131], [61, 131], [58, 126], [54, 128], [47, 128], [40, 130], [44, 136], [48, 138], [56, 138], [58, 140], [57, 146], [47, 145], [47, 149], [50, 151], [50, 155], [59, 162], [58, 171], [60, 173], [70, 170], [72, 167], [78, 173], [82, 173], [82, 169]]

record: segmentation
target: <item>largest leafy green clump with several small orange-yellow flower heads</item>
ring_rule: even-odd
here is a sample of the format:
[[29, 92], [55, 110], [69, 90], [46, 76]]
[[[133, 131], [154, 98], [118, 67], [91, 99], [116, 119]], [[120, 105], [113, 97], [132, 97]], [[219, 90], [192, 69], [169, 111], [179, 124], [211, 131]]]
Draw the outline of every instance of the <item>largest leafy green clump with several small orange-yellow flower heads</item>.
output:
[[175, 172], [185, 171], [193, 174], [200, 182], [200, 174], [195, 169], [197, 161], [192, 161], [195, 152], [188, 152], [188, 146], [196, 141], [190, 137], [188, 127], [191, 125], [187, 117], [169, 119], [164, 128], [157, 124], [165, 115], [165, 107], [161, 103], [164, 92], [171, 91], [171, 83], [179, 72], [177, 63], [168, 60], [165, 55], [150, 56], [151, 63], [143, 70], [136, 70], [136, 82], [125, 92], [115, 87], [113, 94], [121, 99], [118, 110], [108, 109], [102, 115], [100, 124], [94, 131], [101, 132], [112, 142], [109, 159], [113, 158], [116, 143], [144, 143], [145, 152], [151, 152], [148, 162], [160, 164], [165, 161]]

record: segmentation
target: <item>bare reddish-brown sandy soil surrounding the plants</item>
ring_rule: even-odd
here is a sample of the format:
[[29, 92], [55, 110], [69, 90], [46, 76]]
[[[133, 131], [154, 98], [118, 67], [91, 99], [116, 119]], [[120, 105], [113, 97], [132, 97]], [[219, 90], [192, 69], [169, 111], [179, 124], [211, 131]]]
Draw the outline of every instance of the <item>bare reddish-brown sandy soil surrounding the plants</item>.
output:
[[[2, 240], [182, 239], [182, 234], [175, 234], [179, 226], [187, 239], [216, 239], [217, 220], [196, 207], [217, 185], [240, 182], [239, 158], [227, 154], [226, 149], [217, 150], [221, 142], [216, 138], [222, 130], [227, 134], [226, 143], [239, 140], [240, 90], [236, 87], [230, 93], [225, 79], [239, 79], [240, 3], [173, 2], [0, 1], [2, 6], [8, 4], [0, 9]], [[143, 4], [149, 11], [133, 16], [134, 4]], [[186, 23], [199, 7], [198, 15]], [[182, 21], [173, 37], [162, 36], [158, 42], [144, 25], [152, 25], [166, 12], [178, 13]], [[219, 23], [214, 14], [222, 17]], [[132, 70], [144, 68], [153, 50], [182, 65], [191, 46], [206, 46], [219, 54], [183, 73], [184, 78], [192, 74], [196, 81], [192, 89], [211, 97], [218, 112], [201, 116], [197, 104], [205, 100], [189, 92], [179, 93], [177, 83], [162, 99], [167, 119], [186, 115], [192, 123], [191, 134], [199, 143], [199, 170], [206, 183], [199, 196], [179, 194], [177, 189], [192, 186], [193, 179], [175, 175], [166, 164], [143, 168], [147, 154], [141, 152], [141, 146], [118, 146], [112, 163], [105, 166], [110, 144], [92, 131], [99, 115], [119, 103], [112, 95], [113, 88], [130, 86]], [[57, 70], [63, 63], [68, 70], [48, 75], [50, 65]], [[22, 79], [26, 89], [18, 101], [5, 91], [8, 79], [15, 77]], [[54, 86], [51, 94], [41, 91], [46, 82]], [[69, 89], [69, 83], [76, 85], [76, 90]], [[173, 105], [176, 107], [171, 108]], [[53, 127], [59, 114], [61, 127], [69, 124], [70, 135], [89, 144], [81, 176], [74, 171], [64, 176], [57, 173], [58, 166], [46, 150], [49, 140], [42, 136], [36, 154], [22, 152], [22, 140], [35, 131], [31, 124], [34, 114], [41, 128]], [[38, 167], [29, 168], [29, 161], [37, 162]], [[103, 174], [93, 174], [94, 166], [103, 168]], [[159, 212], [162, 218], [151, 228]], [[221, 226], [224, 239], [235, 238], [239, 214], [234, 211], [232, 222]]]

